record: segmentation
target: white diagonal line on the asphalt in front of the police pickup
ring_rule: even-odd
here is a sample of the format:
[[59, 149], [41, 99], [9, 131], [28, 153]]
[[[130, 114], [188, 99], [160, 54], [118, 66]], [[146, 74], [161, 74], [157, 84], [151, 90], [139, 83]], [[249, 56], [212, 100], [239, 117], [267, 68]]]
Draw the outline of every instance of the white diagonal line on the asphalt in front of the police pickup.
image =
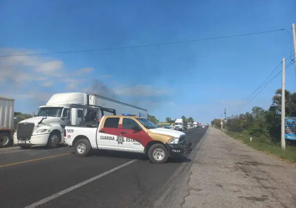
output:
[[47, 203], [47, 202], [49, 202], [49, 201], [51, 201], [51, 200], [53, 200], [53, 199], [55, 199], [55, 198], [57, 198], [57, 197], [59, 197], [59, 196], [61, 196], [61, 195], [64, 195], [64, 194], [66, 194], [66, 193], [68, 193], [68, 192], [70, 192], [70, 191], [73, 191], [73, 190], [76, 189], [76, 188], [82, 187], [83, 185], [86, 185], [86, 184], [88, 184], [88, 183], [90, 183], [90, 182], [92, 182], [92, 181], [95, 181], [95, 180], [97, 180], [97, 179], [99, 179], [99, 178], [101, 178], [101, 177], [103, 177], [103, 176], [105, 176], [105, 175], [107, 175], [107, 174], [109, 174], [109, 173], [112, 173], [112, 172], [114, 172], [115, 170], [118, 170], [118, 169], [120, 169], [120, 168], [122, 168], [122, 167], [124, 167], [124, 166], [127, 166], [127, 165], [129, 165], [129, 164], [131, 164], [131, 163], [133, 163], [133, 162], [135, 162], [135, 161], [137, 161], [137, 160], [132, 160], [132, 161], [129, 161], [129, 162], [127, 162], [127, 163], [124, 163], [124, 164], [121, 165], [121, 166], [114, 167], [114, 168], [111, 169], [111, 170], [108, 170], [108, 171], [106, 171], [106, 172], [103, 172], [103, 173], [101, 173], [101, 174], [99, 174], [99, 175], [97, 175], [97, 176], [95, 176], [95, 177], [93, 177], [93, 178], [90, 178], [90, 179], [88, 179], [88, 180], [86, 180], [86, 181], [83, 181], [83, 182], [81, 182], [81, 183], [79, 183], [79, 184], [76, 184], [76, 185], [74, 185], [73, 187], [69, 187], [69, 188], [67, 188], [67, 189], [65, 189], [65, 190], [62, 190], [62, 191], [57, 192], [57, 193], [55, 193], [55, 194], [52, 194], [51, 196], [49, 196], [49, 197], [47, 197], [47, 198], [44, 198], [44, 199], [42, 199], [42, 200], [40, 200], [40, 201], [38, 201], [38, 202], [35, 202], [34, 204], [31, 204], [31, 205], [29, 205], [29, 206], [27, 206], [27, 207], [25, 207], [25, 208], [36, 208], [36, 207], [38, 207], [39, 205], [45, 204], [45, 203]]

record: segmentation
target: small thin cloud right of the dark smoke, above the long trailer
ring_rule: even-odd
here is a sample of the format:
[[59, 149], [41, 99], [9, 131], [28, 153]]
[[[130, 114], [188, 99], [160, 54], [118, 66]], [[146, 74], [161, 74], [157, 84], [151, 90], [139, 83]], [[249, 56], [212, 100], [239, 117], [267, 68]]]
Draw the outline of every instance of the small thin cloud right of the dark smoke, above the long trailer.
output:
[[169, 90], [140, 84], [135, 86], [117, 86], [113, 90], [115, 94], [123, 96], [162, 96], [170, 94]]

